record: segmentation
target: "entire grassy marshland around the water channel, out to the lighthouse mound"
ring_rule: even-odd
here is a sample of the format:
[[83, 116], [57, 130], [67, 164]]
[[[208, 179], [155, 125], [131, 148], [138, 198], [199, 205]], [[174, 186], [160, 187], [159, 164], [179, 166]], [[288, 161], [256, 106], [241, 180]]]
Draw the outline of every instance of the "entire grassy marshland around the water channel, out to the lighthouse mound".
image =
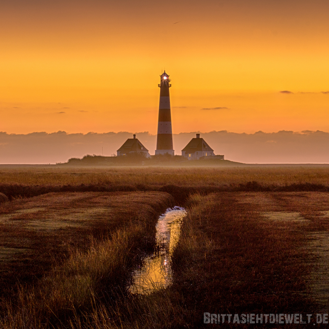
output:
[[[329, 186], [328, 174], [326, 166], [2, 168], [1, 184], [27, 189], [136, 190], [47, 193], [0, 204], [0, 327], [212, 327], [204, 312], [302, 313], [314, 321], [329, 308], [329, 193], [204, 188], [253, 181]], [[171, 195], [159, 191], [170, 184]], [[176, 188], [185, 189], [184, 198]], [[175, 204], [188, 215], [171, 259], [173, 283], [131, 295], [132, 269], [156, 247], [156, 218]]]

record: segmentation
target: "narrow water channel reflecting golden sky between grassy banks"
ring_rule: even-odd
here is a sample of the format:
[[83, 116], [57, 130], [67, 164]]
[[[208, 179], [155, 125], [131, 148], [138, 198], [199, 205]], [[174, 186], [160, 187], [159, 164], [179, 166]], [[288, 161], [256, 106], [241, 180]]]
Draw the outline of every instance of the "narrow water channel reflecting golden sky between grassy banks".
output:
[[182, 219], [186, 211], [181, 207], [167, 209], [159, 217], [156, 225], [157, 244], [160, 251], [144, 259], [141, 268], [135, 271], [132, 293], [149, 294], [155, 290], [166, 288], [172, 282], [170, 256], [172, 255], [180, 235]]

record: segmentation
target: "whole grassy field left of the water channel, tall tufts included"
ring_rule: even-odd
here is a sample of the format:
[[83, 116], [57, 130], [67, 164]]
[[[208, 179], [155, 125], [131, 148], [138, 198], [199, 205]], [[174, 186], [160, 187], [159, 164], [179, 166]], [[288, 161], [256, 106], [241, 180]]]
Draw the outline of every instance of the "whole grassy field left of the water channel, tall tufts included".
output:
[[154, 247], [158, 216], [172, 203], [162, 192], [48, 193], [2, 203], [2, 311], [18, 301], [27, 315], [18, 327], [40, 327], [56, 323], [55, 315], [67, 321], [67, 309], [86, 308], [90, 294], [100, 296], [105, 286], [124, 291], [130, 268]]

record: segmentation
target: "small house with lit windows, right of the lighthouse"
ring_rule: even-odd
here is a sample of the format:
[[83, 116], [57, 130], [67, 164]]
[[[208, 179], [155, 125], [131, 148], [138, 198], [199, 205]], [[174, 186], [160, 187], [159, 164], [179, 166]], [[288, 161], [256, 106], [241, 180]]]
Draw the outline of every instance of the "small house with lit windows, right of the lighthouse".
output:
[[221, 159], [224, 160], [223, 155], [216, 155], [214, 150], [200, 138], [200, 134], [196, 134], [196, 138], [192, 138], [190, 142], [182, 149], [182, 157], [188, 160], [202, 160], [202, 159]]

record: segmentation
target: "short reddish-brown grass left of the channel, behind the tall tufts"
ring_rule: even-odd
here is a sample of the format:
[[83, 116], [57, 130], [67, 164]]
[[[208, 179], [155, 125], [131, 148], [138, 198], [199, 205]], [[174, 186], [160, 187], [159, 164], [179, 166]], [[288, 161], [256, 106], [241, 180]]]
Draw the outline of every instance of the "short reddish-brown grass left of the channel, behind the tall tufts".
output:
[[87, 250], [118, 229], [142, 225], [152, 247], [157, 216], [172, 200], [161, 192], [50, 193], [0, 205], [0, 295], [41, 278], [72, 250]]

